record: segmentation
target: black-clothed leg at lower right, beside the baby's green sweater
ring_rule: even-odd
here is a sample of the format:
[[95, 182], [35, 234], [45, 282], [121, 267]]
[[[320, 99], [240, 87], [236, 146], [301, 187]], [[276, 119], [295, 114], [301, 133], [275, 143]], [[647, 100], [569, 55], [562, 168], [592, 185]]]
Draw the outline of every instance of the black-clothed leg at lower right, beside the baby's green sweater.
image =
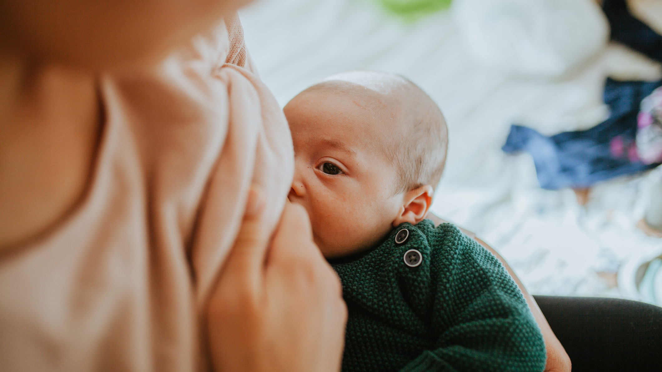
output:
[[662, 371], [662, 307], [623, 299], [534, 298], [573, 372]]

